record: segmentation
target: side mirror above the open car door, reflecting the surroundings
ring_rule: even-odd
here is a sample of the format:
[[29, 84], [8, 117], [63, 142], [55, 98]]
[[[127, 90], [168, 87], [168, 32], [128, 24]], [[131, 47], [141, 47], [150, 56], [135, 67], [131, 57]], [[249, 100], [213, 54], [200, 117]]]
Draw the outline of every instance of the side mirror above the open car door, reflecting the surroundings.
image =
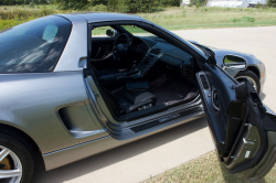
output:
[[246, 69], [247, 61], [236, 55], [225, 55], [223, 58], [223, 68]]

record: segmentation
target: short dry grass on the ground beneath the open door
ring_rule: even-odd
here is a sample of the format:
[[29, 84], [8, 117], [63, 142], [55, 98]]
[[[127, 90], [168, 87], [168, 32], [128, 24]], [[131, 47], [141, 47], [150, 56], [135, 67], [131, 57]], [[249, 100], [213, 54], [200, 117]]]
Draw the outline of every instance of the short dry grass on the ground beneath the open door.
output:
[[[276, 166], [261, 180], [261, 183], [274, 183], [276, 180]], [[215, 152], [210, 152], [178, 168], [171, 169], [157, 176], [150, 177], [142, 183], [157, 182], [229, 182], [246, 183], [240, 175], [227, 174], [224, 168], [219, 163]]]

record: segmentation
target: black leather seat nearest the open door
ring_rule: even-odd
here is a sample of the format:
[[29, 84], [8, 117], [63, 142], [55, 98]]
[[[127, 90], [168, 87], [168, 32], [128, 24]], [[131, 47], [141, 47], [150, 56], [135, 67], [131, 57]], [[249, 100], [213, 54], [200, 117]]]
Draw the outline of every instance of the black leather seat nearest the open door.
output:
[[[104, 89], [104, 88], [103, 88]], [[124, 115], [136, 110], [144, 110], [156, 105], [157, 97], [149, 92], [128, 92], [126, 88], [110, 94], [104, 89], [107, 105], [117, 115]]]

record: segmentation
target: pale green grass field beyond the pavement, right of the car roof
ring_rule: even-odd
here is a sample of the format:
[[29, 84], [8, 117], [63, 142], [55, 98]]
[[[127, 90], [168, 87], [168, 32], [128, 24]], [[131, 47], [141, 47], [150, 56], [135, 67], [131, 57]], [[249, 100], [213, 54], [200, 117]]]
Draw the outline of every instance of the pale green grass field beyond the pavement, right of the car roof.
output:
[[170, 8], [138, 15], [168, 30], [276, 25], [276, 9]]

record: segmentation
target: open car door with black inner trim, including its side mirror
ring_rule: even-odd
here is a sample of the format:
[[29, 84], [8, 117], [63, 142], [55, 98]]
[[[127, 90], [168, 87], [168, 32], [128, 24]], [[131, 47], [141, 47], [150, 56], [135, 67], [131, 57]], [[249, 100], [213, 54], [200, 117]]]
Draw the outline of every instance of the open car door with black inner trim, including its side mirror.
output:
[[[238, 56], [224, 61], [226, 67], [246, 67]], [[276, 160], [275, 114], [262, 104], [248, 79], [237, 83], [215, 64], [201, 68], [197, 80], [219, 160], [227, 173], [248, 181], [264, 177]]]

